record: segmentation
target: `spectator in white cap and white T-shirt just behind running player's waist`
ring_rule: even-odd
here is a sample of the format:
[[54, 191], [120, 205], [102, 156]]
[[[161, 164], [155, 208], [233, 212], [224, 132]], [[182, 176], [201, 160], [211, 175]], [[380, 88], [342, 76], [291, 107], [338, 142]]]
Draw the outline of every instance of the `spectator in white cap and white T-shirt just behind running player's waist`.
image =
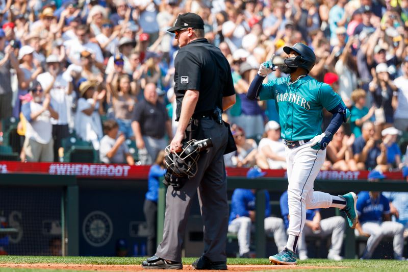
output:
[[281, 126], [276, 121], [265, 125], [266, 137], [258, 145], [257, 165], [264, 169], [286, 169], [285, 144], [281, 139]]

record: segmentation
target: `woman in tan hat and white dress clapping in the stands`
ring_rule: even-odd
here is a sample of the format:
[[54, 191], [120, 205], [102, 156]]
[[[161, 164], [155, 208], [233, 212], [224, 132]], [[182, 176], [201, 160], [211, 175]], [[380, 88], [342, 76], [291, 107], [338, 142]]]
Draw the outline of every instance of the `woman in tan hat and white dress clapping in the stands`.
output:
[[96, 82], [84, 81], [80, 84], [77, 115], [75, 115], [75, 131], [84, 141], [92, 142], [95, 150], [99, 150], [102, 138], [102, 124], [98, 113], [99, 103], [104, 99], [106, 91], [97, 92]]

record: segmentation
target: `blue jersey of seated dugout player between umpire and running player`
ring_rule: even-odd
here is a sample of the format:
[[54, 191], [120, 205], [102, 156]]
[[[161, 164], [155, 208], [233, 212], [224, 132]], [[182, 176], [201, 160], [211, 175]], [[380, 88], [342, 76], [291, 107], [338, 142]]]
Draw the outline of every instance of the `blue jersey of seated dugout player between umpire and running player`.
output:
[[[251, 189], [237, 188], [231, 197], [230, 223], [238, 216], [248, 216], [249, 211], [255, 210], [256, 197]], [[265, 217], [270, 215], [269, 193], [265, 190]]]

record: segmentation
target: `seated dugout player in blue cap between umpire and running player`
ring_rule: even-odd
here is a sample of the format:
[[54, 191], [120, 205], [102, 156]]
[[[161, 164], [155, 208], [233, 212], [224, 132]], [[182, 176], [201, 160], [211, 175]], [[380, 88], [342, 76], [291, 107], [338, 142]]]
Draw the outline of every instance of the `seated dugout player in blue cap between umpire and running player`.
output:
[[[266, 175], [258, 167], [252, 167], [248, 170], [246, 177], [256, 179]], [[273, 234], [278, 251], [284, 249], [287, 236], [284, 221], [282, 218], [270, 216], [269, 193], [265, 190], [265, 232], [267, 235]], [[255, 221], [255, 203], [256, 196], [254, 189], [237, 188], [234, 190], [231, 199], [231, 214], [228, 222], [228, 232], [238, 234], [239, 254], [242, 258], [248, 258], [249, 241], [252, 223]]]

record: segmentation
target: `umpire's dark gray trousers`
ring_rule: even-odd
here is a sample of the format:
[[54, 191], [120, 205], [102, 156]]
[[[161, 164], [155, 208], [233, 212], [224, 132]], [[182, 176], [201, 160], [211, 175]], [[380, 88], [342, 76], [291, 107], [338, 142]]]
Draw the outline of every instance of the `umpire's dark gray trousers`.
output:
[[[223, 153], [227, 143], [227, 128], [214, 120], [203, 119], [203, 139], [212, 138], [213, 147], [198, 160], [197, 175], [179, 191], [167, 188], [163, 241], [156, 256], [181, 262], [190, 202], [198, 191], [204, 224], [204, 256], [213, 262], [226, 261], [225, 244], [228, 228], [228, 203]], [[198, 190], [197, 190], [198, 188]]]

